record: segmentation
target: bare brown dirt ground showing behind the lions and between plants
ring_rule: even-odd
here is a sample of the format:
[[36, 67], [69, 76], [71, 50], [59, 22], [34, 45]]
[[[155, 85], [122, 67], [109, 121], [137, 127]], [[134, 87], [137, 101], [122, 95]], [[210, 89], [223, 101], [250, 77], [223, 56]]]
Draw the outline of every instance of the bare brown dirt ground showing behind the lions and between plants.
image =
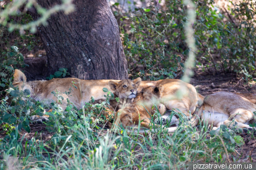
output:
[[[209, 72], [206, 74], [205, 72], [200, 72], [200, 70], [195, 70], [195, 76], [191, 79], [190, 83], [204, 96], [219, 91], [256, 93], [255, 83], [246, 84], [244, 80], [230, 73], [209, 75]], [[30, 128], [31, 133], [27, 133], [25, 130], [22, 130], [20, 133], [20, 136], [26, 134], [23, 142], [30, 140], [32, 137], [49, 141], [53, 135], [46, 130], [46, 125], [44, 124], [31, 124]], [[104, 135], [106, 130], [103, 130], [101, 133], [100, 136]], [[245, 144], [241, 148], [236, 149], [238, 154], [236, 160], [233, 160], [231, 157], [230, 160], [238, 162], [256, 162], [256, 140], [247, 134], [241, 134], [241, 136], [244, 138]], [[0, 133], [0, 139], [3, 137], [4, 134]]]

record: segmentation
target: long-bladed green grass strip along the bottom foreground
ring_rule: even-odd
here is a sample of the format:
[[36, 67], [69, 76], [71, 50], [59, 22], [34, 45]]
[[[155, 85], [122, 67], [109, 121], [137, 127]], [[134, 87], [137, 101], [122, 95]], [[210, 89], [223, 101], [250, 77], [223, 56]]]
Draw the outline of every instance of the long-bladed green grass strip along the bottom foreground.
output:
[[[79, 121], [79, 120], [77, 120]], [[191, 128], [183, 122], [173, 134], [134, 132], [117, 134], [114, 130], [81, 126], [50, 141], [39, 137], [18, 139], [18, 130], [0, 142], [1, 169], [183, 169], [190, 162], [227, 162], [225, 148], [237, 161], [234, 148], [243, 144], [236, 133], [222, 131], [215, 135], [207, 125]], [[210, 135], [211, 134], [214, 135]], [[227, 135], [228, 134], [228, 135]], [[232, 139], [231, 139], [232, 138]], [[224, 142], [224, 145], [222, 141]], [[232, 143], [233, 142], [233, 143]]]

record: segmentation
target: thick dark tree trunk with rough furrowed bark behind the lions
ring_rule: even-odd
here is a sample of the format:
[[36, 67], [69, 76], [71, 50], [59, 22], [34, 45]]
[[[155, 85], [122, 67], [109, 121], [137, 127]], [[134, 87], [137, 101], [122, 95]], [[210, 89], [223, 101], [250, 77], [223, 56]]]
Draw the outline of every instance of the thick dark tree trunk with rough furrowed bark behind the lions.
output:
[[[60, 0], [38, 0], [44, 8]], [[48, 74], [68, 68], [79, 79], [126, 79], [127, 62], [117, 21], [108, 0], [73, 1], [75, 11], [58, 12], [40, 26], [38, 33], [48, 58]], [[30, 12], [33, 19], [36, 12]]]

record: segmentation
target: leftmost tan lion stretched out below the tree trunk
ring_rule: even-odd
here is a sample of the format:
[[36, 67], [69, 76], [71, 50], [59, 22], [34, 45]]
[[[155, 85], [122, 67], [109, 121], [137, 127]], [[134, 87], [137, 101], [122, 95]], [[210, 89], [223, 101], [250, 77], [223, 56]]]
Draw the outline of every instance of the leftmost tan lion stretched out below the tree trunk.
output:
[[[78, 109], [84, 106], [84, 103], [88, 103], [91, 100], [91, 96], [95, 100], [104, 99], [103, 88], [108, 87], [110, 80], [80, 80], [76, 78], [63, 78], [63, 79], [52, 79], [52, 80], [38, 80], [27, 82], [24, 73], [18, 69], [14, 71], [13, 86], [21, 90], [29, 89], [31, 98], [49, 102], [57, 102], [57, 98], [52, 94], [52, 91], [59, 91], [63, 96], [62, 108], [65, 109], [67, 106], [67, 99], [70, 100]], [[115, 81], [115, 80], [112, 80]], [[72, 87], [72, 82], [77, 88], [72, 88], [70, 96], [63, 93]], [[118, 81], [117, 81], [118, 82]]]

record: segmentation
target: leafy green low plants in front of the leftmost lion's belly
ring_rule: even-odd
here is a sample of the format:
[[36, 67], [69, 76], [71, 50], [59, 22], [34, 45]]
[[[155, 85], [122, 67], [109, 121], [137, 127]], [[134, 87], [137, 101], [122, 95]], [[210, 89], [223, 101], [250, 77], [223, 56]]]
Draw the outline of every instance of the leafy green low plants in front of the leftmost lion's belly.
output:
[[[72, 85], [74, 86], [74, 83]], [[63, 92], [68, 96], [72, 94], [72, 88], [70, 87], [69, 92]], [[57, 98], [57, 103], [51, 103], [52, 111], [50, 113], [46, 113], [50, 115], [49, 122], [46, 124], [47, 130], [49, 132], [55, 132], [56, 135], [66, 135], [73, 134], [73, 137], [78, 134], [74, 132], [74, 130], [80, 129], [82, 125], [87, 125], [88, 127], [95, 128], [96, 124], [104, 123], [106, 117], [101, 114], [110, 104], [110, 100], [113, 99], [114, 94], [109, 91], [107, 88], [103, 88], [103, 91], [106, 92], [105, 101], [100, 103], [94, 103], [94, 98], [91, 98], [89, 103], [85, 103], [82, 109], [77, 109], [69, 99], [67, 99], [68, 104], [65, 110], [62, 110], [60, 104], [62, 104], [63, 97], [61, 96], [61, 92], [53, 91], [52, 94]], [[81, 119], [84, 122], [81, 122]]]

